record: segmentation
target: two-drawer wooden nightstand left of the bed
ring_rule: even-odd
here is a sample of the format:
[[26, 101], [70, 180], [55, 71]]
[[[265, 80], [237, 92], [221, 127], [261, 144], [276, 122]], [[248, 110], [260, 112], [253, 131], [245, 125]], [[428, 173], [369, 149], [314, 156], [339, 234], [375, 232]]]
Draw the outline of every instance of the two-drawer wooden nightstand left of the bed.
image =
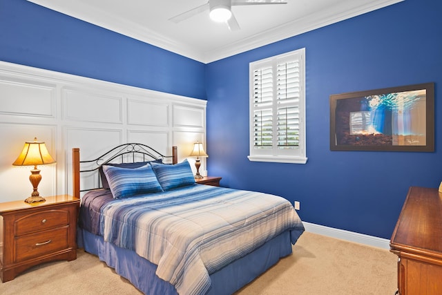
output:
[[7, 282], [34, 265], [77, 258], [79, 198], [0, 203], [0, 279]]

